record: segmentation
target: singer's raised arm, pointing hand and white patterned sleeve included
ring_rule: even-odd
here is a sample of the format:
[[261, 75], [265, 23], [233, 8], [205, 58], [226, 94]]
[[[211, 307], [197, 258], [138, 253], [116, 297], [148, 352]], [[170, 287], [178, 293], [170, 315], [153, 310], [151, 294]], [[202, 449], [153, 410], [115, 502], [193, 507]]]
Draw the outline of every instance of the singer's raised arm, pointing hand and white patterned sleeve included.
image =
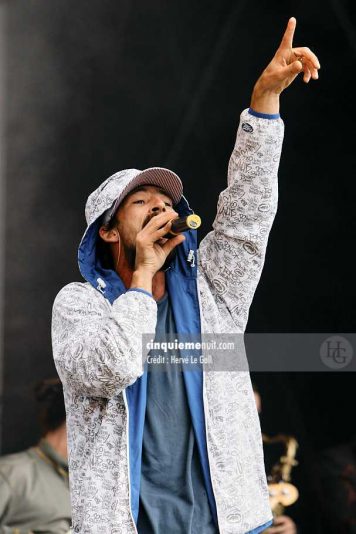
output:
[[245, 110], [230, 158], [228, 187], [219, 197], [214, 230], [199, 247], [200, 273], [238, 329], [261, 276], [269, 232], [277, 210], [277, 171], [283, 140], [279, 96], [300, 72], [318, 78], [318, 59], [309, 48], [293, 48], [291, 18], [281, 44], [257, 80], [250, 110]]

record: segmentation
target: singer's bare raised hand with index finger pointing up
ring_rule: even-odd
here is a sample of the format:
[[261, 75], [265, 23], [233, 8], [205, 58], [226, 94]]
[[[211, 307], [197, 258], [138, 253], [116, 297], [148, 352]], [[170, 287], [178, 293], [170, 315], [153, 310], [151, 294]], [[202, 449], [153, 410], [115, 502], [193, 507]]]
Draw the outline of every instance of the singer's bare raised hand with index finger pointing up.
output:
[[293, 37], [297, 21], [289, 19], [287, 29], [274, 58], [257, 80], [250, 107], [260, 113], [279, 113], [279, 95], [298, 76], [304, 73], [303, 80], [318, 79], [320, 63], [316, 55], [307, 47], [293, 48]]

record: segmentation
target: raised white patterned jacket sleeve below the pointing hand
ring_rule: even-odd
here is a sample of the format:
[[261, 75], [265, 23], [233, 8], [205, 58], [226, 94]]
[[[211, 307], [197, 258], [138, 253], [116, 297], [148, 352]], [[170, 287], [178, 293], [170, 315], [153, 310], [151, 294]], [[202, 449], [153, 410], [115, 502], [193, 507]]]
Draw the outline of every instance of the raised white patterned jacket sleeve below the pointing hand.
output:
[[246, 328], [277, 211], [283, 132], [280, 118], [242, 112], [228, 186], [219, 196], [213, 231], [199, 247], [200, 274], [241, 332]]

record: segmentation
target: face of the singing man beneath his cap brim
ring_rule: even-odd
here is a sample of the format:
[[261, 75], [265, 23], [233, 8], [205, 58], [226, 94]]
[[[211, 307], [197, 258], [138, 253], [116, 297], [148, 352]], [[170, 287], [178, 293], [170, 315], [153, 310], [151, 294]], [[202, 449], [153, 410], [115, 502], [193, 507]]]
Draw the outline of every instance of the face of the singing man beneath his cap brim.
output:
[[136, 236], [156, 215], [164, 211], [173, 211], [172, 199], [159, 187], [140, 186], [120, 204], [116, 212], [117, 229], [120, 233], [126, 257], [134, 267], [136, 256]]

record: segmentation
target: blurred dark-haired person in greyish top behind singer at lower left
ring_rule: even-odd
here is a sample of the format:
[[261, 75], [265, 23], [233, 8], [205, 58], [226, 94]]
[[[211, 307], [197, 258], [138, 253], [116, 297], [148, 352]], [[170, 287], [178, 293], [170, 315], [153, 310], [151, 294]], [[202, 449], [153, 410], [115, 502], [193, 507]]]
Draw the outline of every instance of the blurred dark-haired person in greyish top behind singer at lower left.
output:
[[42, 435], [0, 458], [0, 534], [62, 534], [71, 523], [66, 413], [58, 378], [35, 387]]

